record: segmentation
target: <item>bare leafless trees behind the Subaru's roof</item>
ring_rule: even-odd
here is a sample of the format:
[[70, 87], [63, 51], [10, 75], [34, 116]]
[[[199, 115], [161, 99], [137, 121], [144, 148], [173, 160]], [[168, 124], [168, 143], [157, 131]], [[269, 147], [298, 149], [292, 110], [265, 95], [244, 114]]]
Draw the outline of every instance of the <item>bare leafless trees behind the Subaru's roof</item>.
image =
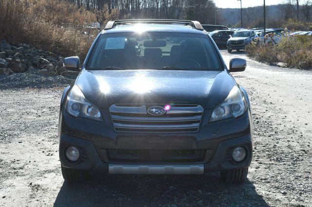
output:
[[[191, 19], [201, 23], [215, 22], [215, 2], [213, 0], [67, 0], [78, 8], [95, 11], [98, 21], [103, 13], [115, 14], [119, 18], [166, 18]], [[117, 14], [117, 15], [116, 15]], [[107, 16], [107, 14], [105, 15]]]

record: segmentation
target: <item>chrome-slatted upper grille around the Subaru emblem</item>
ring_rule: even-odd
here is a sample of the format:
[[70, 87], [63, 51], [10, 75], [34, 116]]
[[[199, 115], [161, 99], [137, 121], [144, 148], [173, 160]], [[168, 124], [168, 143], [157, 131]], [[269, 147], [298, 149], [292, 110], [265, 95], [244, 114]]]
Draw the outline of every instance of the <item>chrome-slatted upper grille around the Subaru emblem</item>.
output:
[[204, 109], [195, 104], [172, 104], [160, 116], [147, 112], [165, 104], [114, 104], [109, 108], [114, 129], [120, 132], [197, 132]]

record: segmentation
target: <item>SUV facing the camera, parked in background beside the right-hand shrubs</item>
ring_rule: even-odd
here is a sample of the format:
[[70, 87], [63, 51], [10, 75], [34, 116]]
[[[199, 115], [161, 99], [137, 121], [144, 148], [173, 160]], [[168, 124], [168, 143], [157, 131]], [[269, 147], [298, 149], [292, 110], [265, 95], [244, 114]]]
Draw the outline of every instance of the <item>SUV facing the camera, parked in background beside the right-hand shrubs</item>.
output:
[[228, 52], [232, 52], [232, 50], [236, 50], [237, 52], [244, 50], [245, 46], [250, 44], [255, 37], [257, 37], [257, 35], [254, 30], [237, 30], [227, 41]]

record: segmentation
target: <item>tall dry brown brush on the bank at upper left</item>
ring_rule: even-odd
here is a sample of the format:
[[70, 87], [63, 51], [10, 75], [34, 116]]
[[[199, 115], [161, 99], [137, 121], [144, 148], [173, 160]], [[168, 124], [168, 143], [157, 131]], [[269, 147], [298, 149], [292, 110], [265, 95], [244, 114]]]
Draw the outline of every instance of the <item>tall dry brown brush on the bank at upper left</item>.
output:
[[95, 21], [94, 13], [65, 1], [0, 0], [0, 39], [64, 56], [85, 57], [98, 31], [83, 35], [83, 27]]

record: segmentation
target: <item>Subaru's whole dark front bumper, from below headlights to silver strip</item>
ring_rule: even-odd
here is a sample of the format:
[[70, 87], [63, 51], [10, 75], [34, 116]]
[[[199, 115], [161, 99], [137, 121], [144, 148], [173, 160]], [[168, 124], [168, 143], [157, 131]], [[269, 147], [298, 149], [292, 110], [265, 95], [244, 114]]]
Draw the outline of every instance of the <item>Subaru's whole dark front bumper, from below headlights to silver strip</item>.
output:
[[[107, 112], [108, 113], [108, 112]], [[204, 112], [200, 130], [192, 133], [126, 133], [114, 131], [104, 111], [106, 122], [73, 118], [60, 114], [59, 158], [67, 168], [101, 171], [114, 174], [202, 174], [248, 167], [252, 160], [251, 114], [249, 110], [238, 119], [209, 123], [210, 110]], [[80, 159], [70, 162], [65, 157], [68, 146], [77, 146]], [[247, 157], [241, 163], [232, 160], [232, 150], [243, 146]], [[112, 161], [107, 149], [204, 149], [203, 160], [194, 162], [122, 162]]]

